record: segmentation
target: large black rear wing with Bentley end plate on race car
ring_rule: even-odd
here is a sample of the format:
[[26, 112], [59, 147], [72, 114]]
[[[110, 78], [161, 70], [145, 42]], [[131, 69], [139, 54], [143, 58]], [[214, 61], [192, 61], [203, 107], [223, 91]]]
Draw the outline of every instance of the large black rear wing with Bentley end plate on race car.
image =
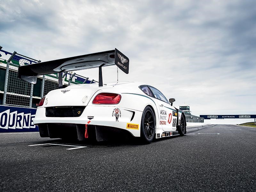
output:
[[[111, 51], [98, 52], [20, 66], [18, 70], [18, 77], [29, 83], [36, 84], [36, 79], [39, 75], [99, 68], [99, 86], [103, 86], [101, 67], [115, 64], [126, 74], [129, 73], [128, 57], [115, 49]], [[60, 78], [61, 75], [59, 75], [59, 79]]]

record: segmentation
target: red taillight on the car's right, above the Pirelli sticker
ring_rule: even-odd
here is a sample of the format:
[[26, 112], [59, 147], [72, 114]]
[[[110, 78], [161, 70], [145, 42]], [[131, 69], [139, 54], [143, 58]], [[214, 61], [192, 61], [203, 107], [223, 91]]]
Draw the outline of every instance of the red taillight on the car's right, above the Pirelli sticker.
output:
[[121, 95], [116, 93], [100, 93], [94, 100], [93, 104], [118, 104], [121, 100]]

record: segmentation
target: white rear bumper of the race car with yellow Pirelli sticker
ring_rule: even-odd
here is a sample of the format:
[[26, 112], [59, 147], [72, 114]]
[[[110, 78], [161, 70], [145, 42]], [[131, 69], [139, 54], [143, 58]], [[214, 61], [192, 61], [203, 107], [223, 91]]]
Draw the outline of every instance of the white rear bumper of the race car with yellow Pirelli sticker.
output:
[[[116, 115], [118, 114], [118, 115]], [[79, 117], [46, 117], [45, 108], [37, 108], [34, 124], [89, 124], [124, 129], [135, 137], [140, 137], [142, 111], [115, 106], [86, 106]], [[137, 124], [137, 129], [127, 128], [127, 124]]]

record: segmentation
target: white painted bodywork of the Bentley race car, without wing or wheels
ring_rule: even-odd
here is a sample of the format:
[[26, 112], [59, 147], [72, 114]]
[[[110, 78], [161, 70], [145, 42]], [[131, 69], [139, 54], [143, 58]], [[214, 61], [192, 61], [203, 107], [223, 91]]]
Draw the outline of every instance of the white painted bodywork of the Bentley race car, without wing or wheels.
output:
[[[149, 105], [153, 108], [156, 116], [156, 135], [162, 135], [163, 132], [176, 131], [176, 126], [180, 123], [176, 122], [175, 126], [172, 126], [173, 119], [177, 118], [177, 116], [173, 116], [172, 113], [177, 113], [177, 109], [172, 107], [169, 103], [148, 96], [139, 88], [140, 85], [146, 84], [119, 81], [118, 83], [104, 84], [102, 87], [99, 87], [98, 84], [79, 84], [68, 86], [64, 89], [53, 90], [45, 96], [43, 106], [37, 108], [34, 124], [64, 123], [102, 125], [124, 129], [130, 132], [133, 136], [140, 137], [142, 113]], [[64, 90], [69, 91], [66, 91], [65, 93], [61, 92]], [[118, 93], [122, 98], [120, 102], [115, 105], [92, 104], [95, 96], [101, 92]], [[86, 96], [87, 99], [84, 99]], [[46, 107], [58, 106], [86, 107], [79, 117], [46, 117]], [[118, 121], [116, 120], [116, 117], [113, 116], [113, 111], [116, 108], [121, 112], [121, 114], [119, 113]], [[161, 111], [164, 114], [161, 114]], [[135, 112], [135, 114], [132, 118], [133, 112]], [[177, 114], [179, 119], [181, 112]], [[168, 120], [170, 122], [170, 119], [168, 119], [170, 113], [172, 114], [172, 120], [171, 123], [168, 123]], [[93, 118], [88, 119], [89, 116]], [[160, 123], [161, 121], [165, 121], [165, 124]], [[138, 124], [139, 128], [128, 129], [127, 123]], [[159, 137], [156, 136], [156, 138]]]

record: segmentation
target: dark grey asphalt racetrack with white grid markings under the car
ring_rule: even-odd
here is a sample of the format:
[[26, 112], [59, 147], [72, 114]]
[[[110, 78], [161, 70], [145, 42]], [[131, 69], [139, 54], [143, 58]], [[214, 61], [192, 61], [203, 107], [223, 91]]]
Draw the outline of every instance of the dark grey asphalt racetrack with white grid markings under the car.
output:
[[256, 128], [237, 125], [149, 145], [0, 133], [0, 191], [256, 191], [255, 151]]

